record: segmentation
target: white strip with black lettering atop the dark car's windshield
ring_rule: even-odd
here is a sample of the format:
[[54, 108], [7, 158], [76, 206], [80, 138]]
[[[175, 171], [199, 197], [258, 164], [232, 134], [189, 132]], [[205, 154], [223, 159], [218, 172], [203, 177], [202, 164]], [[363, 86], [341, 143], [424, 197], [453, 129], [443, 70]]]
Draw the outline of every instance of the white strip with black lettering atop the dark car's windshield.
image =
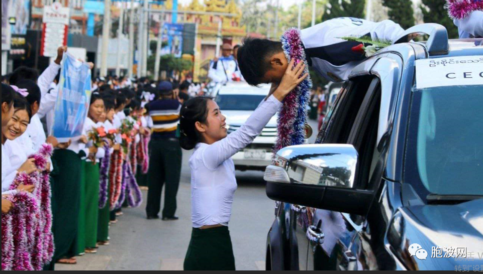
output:
[[416, 88], [483, 85], [483, 55], [416, 60]]

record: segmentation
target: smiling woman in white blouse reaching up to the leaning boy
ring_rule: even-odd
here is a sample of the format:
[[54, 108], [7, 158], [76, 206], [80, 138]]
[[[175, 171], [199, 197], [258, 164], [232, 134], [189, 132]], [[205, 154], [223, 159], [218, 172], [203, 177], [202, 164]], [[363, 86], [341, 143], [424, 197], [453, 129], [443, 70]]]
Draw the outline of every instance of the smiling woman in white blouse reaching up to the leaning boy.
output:
[[228, 230], [233, 195], [237, 188], [235, 165], [230, 159], [260, 134], [282, 101], [307, 75], [305, 65], [292, 61], [280, 84], [239, 130], [227, 135], [226, 117], [210, 98], [186, 101], [180, 112], [180, 145], [195, 149], [191, 168], [191, 220], [193, 230], [184, 270], [235, 270]]

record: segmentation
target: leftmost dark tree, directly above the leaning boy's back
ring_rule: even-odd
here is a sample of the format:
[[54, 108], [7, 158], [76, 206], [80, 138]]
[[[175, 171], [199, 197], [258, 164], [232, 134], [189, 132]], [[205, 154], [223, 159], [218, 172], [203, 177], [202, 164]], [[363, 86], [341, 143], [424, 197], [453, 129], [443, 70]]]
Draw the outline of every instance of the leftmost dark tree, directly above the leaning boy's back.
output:
[[329, 0], [322, 21], [337, 17], [364, 18], [365, 0]]

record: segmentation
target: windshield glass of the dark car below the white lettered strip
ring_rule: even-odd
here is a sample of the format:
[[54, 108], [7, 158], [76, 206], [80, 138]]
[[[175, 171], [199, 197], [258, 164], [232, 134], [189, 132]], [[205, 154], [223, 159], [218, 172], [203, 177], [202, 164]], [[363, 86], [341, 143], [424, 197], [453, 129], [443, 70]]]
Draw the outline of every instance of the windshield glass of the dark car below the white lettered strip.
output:
[[423, 197], [483, 195], [483, 85], [413, 92], [405, 174]]

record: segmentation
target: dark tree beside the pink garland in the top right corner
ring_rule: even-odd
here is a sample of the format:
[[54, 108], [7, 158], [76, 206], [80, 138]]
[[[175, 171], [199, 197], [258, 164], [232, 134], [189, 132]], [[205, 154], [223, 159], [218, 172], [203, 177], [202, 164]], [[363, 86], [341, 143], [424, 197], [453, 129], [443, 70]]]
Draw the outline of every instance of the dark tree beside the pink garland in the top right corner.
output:
[[449, 38], [458, 38], [458, 29], [448, 16], [448, 11], [444, 8], [446, 0], [422, 0], [421, 11], [425, 23], [438, 23], [448, 30]]

